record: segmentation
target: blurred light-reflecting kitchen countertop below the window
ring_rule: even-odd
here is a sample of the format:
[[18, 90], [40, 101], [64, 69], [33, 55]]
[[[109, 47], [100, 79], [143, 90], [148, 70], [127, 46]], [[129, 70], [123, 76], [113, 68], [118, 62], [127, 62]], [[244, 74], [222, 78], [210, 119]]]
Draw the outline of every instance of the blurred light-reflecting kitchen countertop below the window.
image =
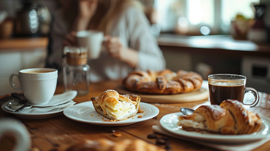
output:
[[270, 55], [270, 44], [256, 44], [248, 40], [234, 40], [230, 35], [181, 36], [161, 34], [158, 45], [173, 47], [234, 50], [243, 52], [266, 52]]

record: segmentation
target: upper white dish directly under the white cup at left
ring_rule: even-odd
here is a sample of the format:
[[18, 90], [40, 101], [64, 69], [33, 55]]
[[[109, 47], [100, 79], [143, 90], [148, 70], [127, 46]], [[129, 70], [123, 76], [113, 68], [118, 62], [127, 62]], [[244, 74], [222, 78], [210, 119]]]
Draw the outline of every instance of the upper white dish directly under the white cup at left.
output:
[[56, 94], [52, 97], [50, 102], [46, 105], [32, 105], [32, 104], [27, 104], [30, 106], [36, 106], [36, 107], [49, 107], [49, 106], [57, 106], [59, 104], [63, 104], [68, 102], [69, 100], [74, 99], [77, 96], [77, 91], [71, 90], [67, 91], [61, 94]]

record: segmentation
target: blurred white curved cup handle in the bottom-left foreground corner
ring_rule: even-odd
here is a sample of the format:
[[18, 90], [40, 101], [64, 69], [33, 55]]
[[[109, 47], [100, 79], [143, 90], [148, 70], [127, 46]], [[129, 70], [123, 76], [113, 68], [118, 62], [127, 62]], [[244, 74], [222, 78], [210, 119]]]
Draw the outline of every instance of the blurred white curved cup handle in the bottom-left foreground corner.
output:
[[[13, 151], [29, 151], [31, 138], [26, 127], [18, 120], [4, 118], [0, 120], [0, 138], [5, 134], [11, 134], [16, 139]], [[2, 147], [1, 147], [2, 148]]]

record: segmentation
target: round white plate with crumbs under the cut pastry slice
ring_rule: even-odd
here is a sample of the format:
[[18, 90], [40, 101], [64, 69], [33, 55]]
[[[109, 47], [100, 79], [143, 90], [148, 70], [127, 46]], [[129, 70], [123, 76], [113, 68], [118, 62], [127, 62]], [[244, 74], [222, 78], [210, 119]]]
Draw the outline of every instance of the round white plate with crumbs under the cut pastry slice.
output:
[[[72, 107], [69, 107], [64, 110], [64, 114], [66, 115], [66, 117], [79, 122], [102, 126], [122, 126], [149, 120], [150, 118], [157, 116], [159, 113], [159, 110], [156, 106], [148, 103], [141, 102], [140, 108], [143, 113], [137, 113], [134, 117], [116, 122], [111, 122], [108, 118], [98, 114], [93, 106], [92, 101], [79, 103]], [[138, 118], [139, 115], [141, 115], [142, 117]]]

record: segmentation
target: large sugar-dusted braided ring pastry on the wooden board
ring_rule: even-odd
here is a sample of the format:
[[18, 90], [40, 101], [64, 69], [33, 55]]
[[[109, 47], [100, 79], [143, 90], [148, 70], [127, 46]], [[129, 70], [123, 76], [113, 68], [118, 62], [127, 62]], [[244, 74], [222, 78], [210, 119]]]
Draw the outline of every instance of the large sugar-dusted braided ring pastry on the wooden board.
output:
[[149, 94], [175, 94], [201, 88], [203, 78], [196, 72], [179, 70], [177, 73], [163, 71], [134, 71], [124, 80], [123, 85], [132, 92]]

